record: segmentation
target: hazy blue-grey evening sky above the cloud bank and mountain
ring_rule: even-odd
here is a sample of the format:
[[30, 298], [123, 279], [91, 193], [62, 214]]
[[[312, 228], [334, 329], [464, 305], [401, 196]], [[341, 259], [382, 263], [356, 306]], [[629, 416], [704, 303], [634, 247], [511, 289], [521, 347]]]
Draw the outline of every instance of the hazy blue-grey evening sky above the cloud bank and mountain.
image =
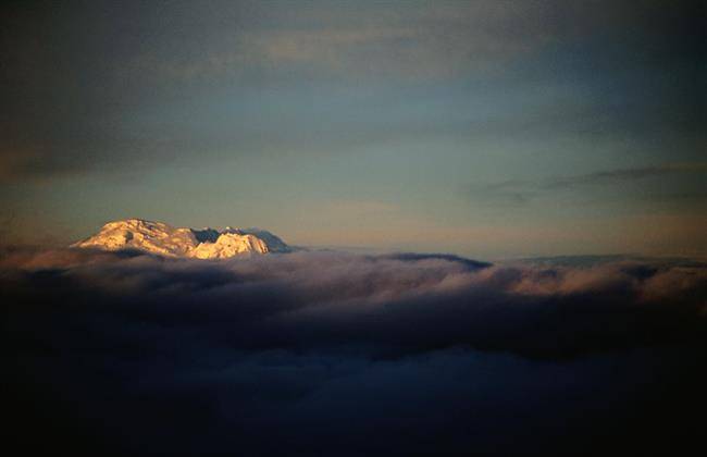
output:
[[700, 2], [0, 8], [7, 243], [707, 256]]

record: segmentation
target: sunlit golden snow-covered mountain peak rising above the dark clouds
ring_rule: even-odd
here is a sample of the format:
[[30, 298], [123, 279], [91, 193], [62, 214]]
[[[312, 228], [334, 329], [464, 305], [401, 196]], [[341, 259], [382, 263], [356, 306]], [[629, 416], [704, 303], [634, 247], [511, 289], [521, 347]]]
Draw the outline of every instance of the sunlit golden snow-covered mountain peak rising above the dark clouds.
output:
[[109, 222], [96, 235], [74, 243], [72, 247], [138, 249], [160, 256], [198, 259], [225, 259], [292, 250], [277, 236], [260, 228], [194, 230], [141, 219]]

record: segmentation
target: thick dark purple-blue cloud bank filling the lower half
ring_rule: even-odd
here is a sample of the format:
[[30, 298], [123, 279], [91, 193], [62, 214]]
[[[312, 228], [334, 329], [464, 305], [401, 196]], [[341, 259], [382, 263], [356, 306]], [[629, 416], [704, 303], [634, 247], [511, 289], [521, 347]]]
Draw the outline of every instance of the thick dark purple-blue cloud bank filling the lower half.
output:
[[9, 250], [0, 284], [30, 447], [667, 452], [704, 410], [699, 262]]

